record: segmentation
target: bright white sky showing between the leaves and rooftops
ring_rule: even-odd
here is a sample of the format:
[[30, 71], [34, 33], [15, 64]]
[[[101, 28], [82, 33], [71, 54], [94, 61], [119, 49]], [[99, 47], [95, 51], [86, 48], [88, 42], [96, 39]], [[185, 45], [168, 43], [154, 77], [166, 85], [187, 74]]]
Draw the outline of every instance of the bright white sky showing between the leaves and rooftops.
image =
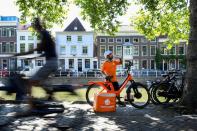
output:
[[[16, 0], [0, 0], [0, 15], [2, 16], [18, 16], [20, 17], [20, 12], [18, 11], [18, 7], [15, 5]], [[132, 16], [136, 14], [137, 6], [130, 6], [127, 10], [126, 15], [119, 17], [119, 20], [123, 25], [130, 24], [130, 20]], [[90, 24], [87, 21], [83, 21], [80, 17], [80, 8], [75, 5], [70, 6], [70, 11], [68, 12], [67, 19], [65, 20], [63, 27], [60, 25], [56, 25], [53, 28], [53, 31], [62, 31], [66, 28], [66, 26], [74, 19], [78, 17], [86, 30], [91, 30]]]

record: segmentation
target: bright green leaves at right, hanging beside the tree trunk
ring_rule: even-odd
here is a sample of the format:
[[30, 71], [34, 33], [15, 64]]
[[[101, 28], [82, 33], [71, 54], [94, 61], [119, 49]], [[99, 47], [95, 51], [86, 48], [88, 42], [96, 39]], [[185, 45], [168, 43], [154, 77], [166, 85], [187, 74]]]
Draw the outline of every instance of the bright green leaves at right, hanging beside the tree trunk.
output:
[[185, 0], [139, 0], [141, 5], [134, 21], [136, 29], [147, 38], [167, 36], [170, 46], [188, 40], [189, 10]]

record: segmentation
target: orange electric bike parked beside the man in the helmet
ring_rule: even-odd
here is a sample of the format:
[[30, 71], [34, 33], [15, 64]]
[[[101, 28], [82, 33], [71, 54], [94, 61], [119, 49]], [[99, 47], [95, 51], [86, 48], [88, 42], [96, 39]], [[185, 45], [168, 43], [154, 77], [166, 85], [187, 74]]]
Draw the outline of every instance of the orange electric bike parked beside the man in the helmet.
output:
[[[150, 101], [150, 94], [147, 89], [147, 87], [139, 82], [135, 82], [133, 80], [132, 75], [130, 74], [130, 68], [132, 63], [129, 62], [127, 65], [127, 77], [124, 80], [124, 82], [120, 85], [119, 90], [114, 90], [114, 87], [110, 81], [91, 81], [89, 82], [89, 86], [86, 91], [86, 100], [87, 103], [91, 106], [94, 105], [95, 108], [95, 102], [94, 100], [97, 100], [97, 96], [99, 96], [100, 101], [102, 101], [102, 97], [107, 97], [108, 99], [105, 100], [105, 105], [110, 105], [109, 100], [111, 100], [112, 105], [114, 105], [114, 97], [113, 94], [115, 94], [115, 102], [116, 102], [116, 96], [120, 96], [121, 92], [124, 88], [126, 88], [126, 94], [125, 94], [125, 101], [129, 102], [132, 106], [142, 109], [146, 107], [149, 104]], [[130, 85], [127, 86], [128, 82], [130, 82]], [[107, 95], [110, 94], [110, 95]], [[109, 97], [111, 96], [111, 97]], [[98, 101], [99, 102], [99, 101]], [[102, 104], [101, 102], [98, 104]], [[103, 106], [103, 105], [101, 105]], [[113, 111], [113, 110], [111, 110]], [[103, 111], [104, 112], [104, 111]]]

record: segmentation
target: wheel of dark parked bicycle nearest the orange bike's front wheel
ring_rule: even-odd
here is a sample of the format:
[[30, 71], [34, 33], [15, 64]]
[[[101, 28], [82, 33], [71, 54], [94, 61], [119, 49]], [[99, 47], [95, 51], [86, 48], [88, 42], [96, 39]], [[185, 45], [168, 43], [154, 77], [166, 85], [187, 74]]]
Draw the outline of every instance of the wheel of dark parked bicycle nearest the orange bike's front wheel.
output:
[[165, 104], [170, 101], [170, 98], [168, 98], [168, 89], [169, 85], [166, 83], [161, 83], [155, 87], [153, 90], [153, 97], [159, 104]]

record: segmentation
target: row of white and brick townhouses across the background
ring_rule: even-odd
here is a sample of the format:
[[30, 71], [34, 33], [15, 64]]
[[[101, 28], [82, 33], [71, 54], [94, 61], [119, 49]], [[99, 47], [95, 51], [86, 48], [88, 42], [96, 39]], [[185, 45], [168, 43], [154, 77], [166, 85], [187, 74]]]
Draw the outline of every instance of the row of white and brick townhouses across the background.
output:
[[[17, 59], [8, 57], [10, 54], [26, 52], [36, 48], [39, 38], [25, 25], [19, 25], [17, 17], [0, 16], [0, 69], [18, 70], [26, 66], [39, 69], [45, 63], [45, 59], [27, 59], [39, 56], [42, 52], [34, 52], [28, 56]], [[170, 51], [163, 44], [166, 38], [147, 40], [145, 36], [133, 30], [130, 26], [121, 26], [114, 36], [107, 34], [95, 34], [86, 31], [78, 18], [75, 18], [64, 31], [56, 32], [55, 41], [58, 54], [59, 68], [62, 71], [87, 71], [99, 69], [104, 59], [104, 52], [111, 50], [114, 57], [123, 59], [125, 68], [128, 61], [134, 63], [133, 69], [156, 69], [156, 49], [159, 48], [162, 56], [179, 56], [186, 54], [186, 42], [172, 47]], [[161, 70], [184, 68], [180, 57], [161, 60]]]

